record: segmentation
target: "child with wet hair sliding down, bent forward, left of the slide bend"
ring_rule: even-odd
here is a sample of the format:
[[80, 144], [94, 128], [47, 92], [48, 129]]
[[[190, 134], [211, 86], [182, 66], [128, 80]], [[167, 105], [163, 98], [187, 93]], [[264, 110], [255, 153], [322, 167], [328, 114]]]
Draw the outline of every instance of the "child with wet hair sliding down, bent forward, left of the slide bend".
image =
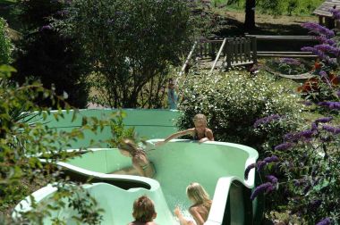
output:
[[123, 139], [118, 145], [119, 152], [126, 157], [132, 158], [132, 168], [115, 171], [114, 174], [140, 175], [152, 178], [155, 168], [147, 157], [145, 151], [137, 146], [131, 139]]

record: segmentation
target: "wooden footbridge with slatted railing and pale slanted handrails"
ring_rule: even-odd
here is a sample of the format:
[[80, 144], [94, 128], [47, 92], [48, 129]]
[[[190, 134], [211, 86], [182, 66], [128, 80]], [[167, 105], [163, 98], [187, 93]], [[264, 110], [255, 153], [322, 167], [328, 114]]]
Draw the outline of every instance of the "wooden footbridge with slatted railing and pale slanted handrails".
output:
[[[340, 1], [340, 0], [339, 0]], [[289, 57], [289, 58], [316, 58], [311, 52], [280, 52], [258, 51], [257, 40], [260, 41], [310, 41], [317, 42], [313, 36], [269, 36], [246, 35], [245, 37], [216, 37], [200, 38], [191, 47], [180, 75], [187, 71], [191, 58], [200, 62], [199, 69], [214, 70], [227, 69], [234, 66], [257, 63], [258, 57]]]

